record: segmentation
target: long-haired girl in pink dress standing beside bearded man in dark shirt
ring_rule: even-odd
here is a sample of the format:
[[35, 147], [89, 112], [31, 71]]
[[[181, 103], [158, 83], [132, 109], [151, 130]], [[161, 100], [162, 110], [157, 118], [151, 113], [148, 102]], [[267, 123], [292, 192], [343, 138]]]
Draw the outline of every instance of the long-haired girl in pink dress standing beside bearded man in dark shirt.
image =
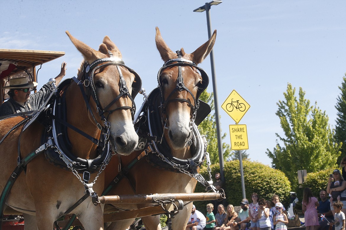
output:
[[318, 216], [316, 215], [316, 207], [320, 204], [316, 197], [312, 196], [310, 188], [304, 188], [302, 210], [304, 211], [306, 230], [317, 230], [320, 226]]

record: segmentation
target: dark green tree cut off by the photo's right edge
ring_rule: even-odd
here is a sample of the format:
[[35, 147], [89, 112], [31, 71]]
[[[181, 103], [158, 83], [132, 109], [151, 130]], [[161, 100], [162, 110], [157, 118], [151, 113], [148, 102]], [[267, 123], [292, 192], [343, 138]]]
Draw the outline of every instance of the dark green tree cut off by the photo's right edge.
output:
[[[346, 76], [346, 74], [345, 74]], [[337, 104], [335, 108], [338, 110], [335, 126], [335, 141], [342, 142], [341, 155], [337, 163], [340, 163], [341, 158], [346, 156], [346, 78], [343, 77], [343, 82], [341, 83], [340, 95], [337, 98]]]

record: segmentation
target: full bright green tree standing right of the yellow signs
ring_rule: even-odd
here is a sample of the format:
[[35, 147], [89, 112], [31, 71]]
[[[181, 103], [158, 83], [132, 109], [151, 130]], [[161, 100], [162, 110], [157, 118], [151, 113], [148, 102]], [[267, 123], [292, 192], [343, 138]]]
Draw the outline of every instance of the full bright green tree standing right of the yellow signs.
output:
[[334, 142], [334, 133], [328, 124], [326, 112], [322, 112], [315, 102], [305, 99], [305, 92], [299, 88], [299, 98], [291, 84], [284, 92], [285, 101], [279, 101], [276, 115], [280, 118], [285, 137], [276, 136], [273, 152], [267, 149], [266, 154], [272, 159], [272, 166], [286, 174], [289, 180], [297, 183], [297, 171], [307, 172], [333, 168], [340, 155], [340, 144]]

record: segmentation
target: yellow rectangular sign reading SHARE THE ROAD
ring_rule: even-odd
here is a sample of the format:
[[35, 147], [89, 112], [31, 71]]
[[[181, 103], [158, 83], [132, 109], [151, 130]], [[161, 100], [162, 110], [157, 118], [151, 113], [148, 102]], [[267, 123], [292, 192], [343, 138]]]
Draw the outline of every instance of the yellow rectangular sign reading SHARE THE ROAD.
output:
[[231, 137], [232, 150], [249, 149], [246, 124], [230, 124], [229, 133]]

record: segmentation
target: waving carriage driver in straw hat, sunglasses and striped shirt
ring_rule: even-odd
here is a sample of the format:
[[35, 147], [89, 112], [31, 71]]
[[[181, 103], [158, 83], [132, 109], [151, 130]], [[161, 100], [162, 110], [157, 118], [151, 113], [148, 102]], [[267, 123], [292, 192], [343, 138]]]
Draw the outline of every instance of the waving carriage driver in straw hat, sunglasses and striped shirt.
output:
[[[58, 76], [55, 77], [56, 85], [58, 85], [65, 76], [66, 65], [66, 62], [61, 64], [61, 71]], [[8, 91], [10, 99], [0, 106], [0, 117], [19, 112], [38, 110], [53, 91], [53, 88], [46, 83], [38, 92], [30, 94], [30, 91], [36, 88], [37, 82], [28, 81], [26, 77], [11, 78], [9, 84], [9, 86], [2, 88], [10, 89], [10, 91]]]

